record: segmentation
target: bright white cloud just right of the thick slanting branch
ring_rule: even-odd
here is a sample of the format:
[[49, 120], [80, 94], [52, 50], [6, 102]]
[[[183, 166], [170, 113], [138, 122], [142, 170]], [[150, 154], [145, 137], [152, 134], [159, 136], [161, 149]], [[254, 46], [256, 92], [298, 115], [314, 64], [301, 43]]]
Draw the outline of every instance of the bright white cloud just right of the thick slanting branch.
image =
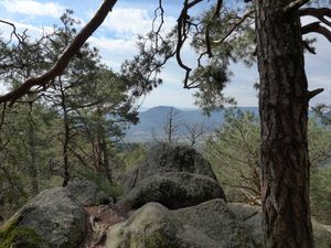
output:
[[[88, 11], [88, 17], [93, 12]], [[100, 50], [103, 61], [114, 69], [119, 69], [125, 60], [137, 54], [137, 34], [146, 34], [152, 29], [151, 13], [139, 8], [115, 8], [103, 23], [98, 35], [88, 42]], [[175, 24], [173, 17], [164, 17], [162, 32], [168, 32]]]

